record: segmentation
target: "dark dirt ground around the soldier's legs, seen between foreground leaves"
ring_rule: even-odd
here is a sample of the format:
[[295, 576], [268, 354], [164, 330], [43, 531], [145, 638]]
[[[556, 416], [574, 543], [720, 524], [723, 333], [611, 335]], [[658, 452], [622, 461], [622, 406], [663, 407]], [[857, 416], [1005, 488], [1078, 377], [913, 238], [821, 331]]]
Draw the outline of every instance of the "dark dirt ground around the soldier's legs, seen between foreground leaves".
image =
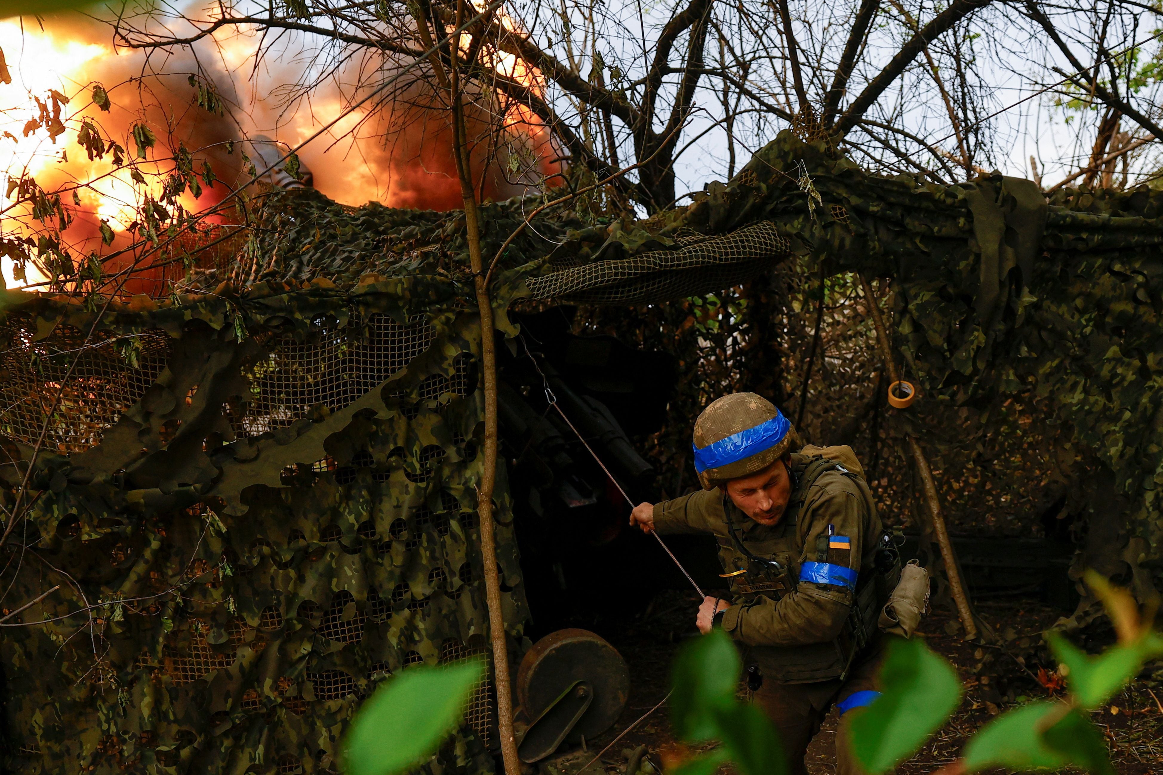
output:
[[[602, 633], [621, 652], [630, 668], [632, 693], [627, 709], [614, 727], [599, 739], [588, 741], [585, 751], [575, 746], [542, 762], [538, 766], [541, 775], [577, 775], [594, 754], [665, 697], [675, 650], [686, 638], [697, 634], [693, 625], [697, 602], [693, 593], [665, 591], [633, 624], [616, 633]], [[1037, 601], [1023, 598], [984, 601], [978, 602], [977, 608], [994, 630], [1004, 633], [1011, 646], [985, 650], [965, 644], [959, 637], [956, 616], [949, 611], [936, 610], [925, 619], [921, 634], [957, 668], [965, 694], [949, 723], [897, 770], [900, 775], [933, 773], [951, 762], [966, 738], [992, 716], [1012, 704], [1050, 694], [1036, 680], [1040, 665], [1021, 665], [1014, 654], [1029, 654], [1029, 648], [1037, 646], [1040, 633], [1059, 613]], [[1155, 677], [1163, 676], [1156, 673]], [[1093, 715], [1094, 723], [1107, 737], [1111, 759], [1119, 775], [1163, 773], [1163, 704], [1160, 702], [1163, 689], [1157, 680], [1140, 679], [1116, 696], [1108, 708]], [[745, 689], [742, 694], [745, 695]], [[812, 775], [835, 773], [835, 730], [836, 711], [833, 710], [808, 751], [808, 772]], [[671, 734], [665, 705], [618, 740], [584, 775], [625, 774], [628, 758], [640, 746], [647, 747], [648, 762], [640, 772], [647, 772], [651, 766], [656, 770], [662, 769], [668, 760], [680, 754], [682, 746]]]

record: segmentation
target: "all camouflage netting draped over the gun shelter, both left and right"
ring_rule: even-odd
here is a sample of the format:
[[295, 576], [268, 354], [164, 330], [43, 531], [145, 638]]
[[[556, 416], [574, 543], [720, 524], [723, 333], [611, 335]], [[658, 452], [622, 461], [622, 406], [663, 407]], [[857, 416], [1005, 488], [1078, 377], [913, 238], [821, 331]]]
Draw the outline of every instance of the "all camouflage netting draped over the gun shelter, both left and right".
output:
[[[491, 257], [530, 207], [484, 209]], [[540, 217], [500, 259], [498, 328], [514, 332], [521, 296], [662, 301], [791, 256], [891, 278], [922, 394], [969, 423], [1036, 394], [1069, 430], [1059, 457], [1092, 522], [1113, 525], [1087, 561], [1146, 594], [1163, 546], [1161, 214], [1147, 189], [1047, 206], [1000, 177], [877, 178], [784, 134], [688, 208]], [[59, 586], [0, 622], [14, 769], [333, 770], [376, 681], [487, 645], [463, 216], [305, 191], [259, 218], [236, 261], [165, 301], [5, 295], [0, 431], [16, 462], [0, 493], [10, 509], [27, 471], [33, 503], [7, 525], [5, 615]], [[495, 500], [516, 658], [504, 472]], [[427, 772], [492, 768], [488, 691]]]

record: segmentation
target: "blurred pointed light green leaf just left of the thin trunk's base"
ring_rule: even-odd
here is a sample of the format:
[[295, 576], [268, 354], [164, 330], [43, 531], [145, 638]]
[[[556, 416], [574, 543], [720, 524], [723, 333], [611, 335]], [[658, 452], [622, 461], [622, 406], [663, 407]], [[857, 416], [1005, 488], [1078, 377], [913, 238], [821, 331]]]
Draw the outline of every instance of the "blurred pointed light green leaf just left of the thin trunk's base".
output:
[[348, 775], [394, 775], [430, 756], [456, 729], [480, 661], [404, 670], [368, 699], [344, 746]]

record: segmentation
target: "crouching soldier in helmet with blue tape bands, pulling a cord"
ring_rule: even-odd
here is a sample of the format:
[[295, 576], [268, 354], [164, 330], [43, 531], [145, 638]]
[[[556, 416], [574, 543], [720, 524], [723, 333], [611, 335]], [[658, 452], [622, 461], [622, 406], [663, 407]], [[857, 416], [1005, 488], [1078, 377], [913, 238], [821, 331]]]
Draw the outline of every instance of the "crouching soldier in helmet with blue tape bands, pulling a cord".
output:
[[779, 730], [791, 773], [807, 773], [808, 744], [835, 704], [836, 772], [854, 775], [843, 713], [878, 694], [876, 617], [893, 582], [877, 579], [891, 571], [876, 567], [880, 519], [851, 449], [798, 442], [765, 399], [723, 396], [694, 423], [704, 489], [642, 503], [630, 524], [714, 534], [733, 598], [704, 600], [699, 630], [722, 626], [743, 645], [755, 702]]

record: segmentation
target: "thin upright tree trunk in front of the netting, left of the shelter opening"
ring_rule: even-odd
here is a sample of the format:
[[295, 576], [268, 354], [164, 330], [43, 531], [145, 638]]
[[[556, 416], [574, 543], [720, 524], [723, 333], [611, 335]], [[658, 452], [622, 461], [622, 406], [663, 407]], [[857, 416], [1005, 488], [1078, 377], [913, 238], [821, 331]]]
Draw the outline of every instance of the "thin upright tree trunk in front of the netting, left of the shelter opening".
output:
[[[457, 3], [457, 26], [464, 16], [464, 0]], [[459, 49], [459, 36], [454, 36], [451, 51]], [[469, 261], [472, 266], [477, 309], [480, 313], [480, 360], [485, 387], [485, 445], [484, 472], [477, 487], [477, 512], [480, 515], [480, 554], [485, 571], [485, 602], [488, 607], [488, 633], [493, 644], [493, 679], [497, 691], [497, 726], [500, 733], [505, 775], [520, 775], [521, 762], [516, 755], [513, 735], [513, 698], [509, 680], [508, 641], [501, 611], [500, 572], [497, 566], [497, 523], [493, 518], [493, 487], [497, 483], [497, 353], [493, 339], [493, 307], [485, 285], [484, 257], [480, 250], [480, 217], [472, 184], [472, 166], [464, 121], [464, 101], [461, 78], [452, 63], [450, 92], [452, 103], [452, 148], [461, 194], [464, 199], [464, 225], [469, 242]]]

